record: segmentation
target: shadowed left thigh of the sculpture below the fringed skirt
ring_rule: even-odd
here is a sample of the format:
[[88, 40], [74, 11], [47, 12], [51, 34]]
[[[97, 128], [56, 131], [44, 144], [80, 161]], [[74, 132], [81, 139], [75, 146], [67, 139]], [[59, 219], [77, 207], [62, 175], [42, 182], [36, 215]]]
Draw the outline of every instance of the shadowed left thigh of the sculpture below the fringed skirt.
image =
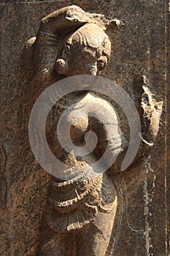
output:
[[[49, 231], [47, 233], [47, 230]], [[46, 230], [42, 244], [39, 248], [39, 256], [75, 256], [76, 241], [74, 233], [54, 232]]]

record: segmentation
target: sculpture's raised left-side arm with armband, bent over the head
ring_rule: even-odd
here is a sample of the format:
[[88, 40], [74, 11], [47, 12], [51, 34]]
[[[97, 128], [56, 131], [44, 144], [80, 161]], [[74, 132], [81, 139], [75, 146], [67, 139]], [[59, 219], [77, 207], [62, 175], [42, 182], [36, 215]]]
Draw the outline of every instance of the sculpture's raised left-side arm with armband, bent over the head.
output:
[[42, 19], [35, 42], [35, 72], [52, 71], [56, 58], [61, 54], [66, 34], [88, 22], [86, 13], [77, 6], [64, 7]]

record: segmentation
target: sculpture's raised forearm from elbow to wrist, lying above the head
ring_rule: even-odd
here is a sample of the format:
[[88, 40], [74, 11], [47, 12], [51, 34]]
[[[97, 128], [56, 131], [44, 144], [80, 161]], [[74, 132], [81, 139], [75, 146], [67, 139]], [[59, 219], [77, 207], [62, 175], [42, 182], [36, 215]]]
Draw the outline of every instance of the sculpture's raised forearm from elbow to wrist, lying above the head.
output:
[[43, 18], [39, 30], [64, 35], [88, 22], [87, 13], [80, 7], [72, 5], [56, 10]]

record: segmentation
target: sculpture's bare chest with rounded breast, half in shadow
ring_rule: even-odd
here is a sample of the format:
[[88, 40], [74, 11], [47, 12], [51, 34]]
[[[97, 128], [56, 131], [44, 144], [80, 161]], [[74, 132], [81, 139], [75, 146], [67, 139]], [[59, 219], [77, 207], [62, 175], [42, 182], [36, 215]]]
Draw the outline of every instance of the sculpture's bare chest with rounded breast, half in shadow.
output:
[[58, 129], [61, 132], [69, 130], [73, 142], [83, 140], [85, 132], [88, 131], [88, 112], [85, 100], [70, 102], [62, 99], [50, 110], [46, 122], [46, 134], [51, 138], [56, 137]]

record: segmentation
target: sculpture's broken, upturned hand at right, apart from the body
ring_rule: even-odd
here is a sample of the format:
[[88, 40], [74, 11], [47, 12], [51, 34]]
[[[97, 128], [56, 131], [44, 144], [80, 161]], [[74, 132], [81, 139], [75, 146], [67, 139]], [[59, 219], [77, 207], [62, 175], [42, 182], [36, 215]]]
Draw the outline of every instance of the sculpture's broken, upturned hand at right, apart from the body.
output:
[[148, 143], [152, 143], [158, 134], [163, 102], [156, 102], [147, 86], [143, 86], [143, 90], [142, 136]]

